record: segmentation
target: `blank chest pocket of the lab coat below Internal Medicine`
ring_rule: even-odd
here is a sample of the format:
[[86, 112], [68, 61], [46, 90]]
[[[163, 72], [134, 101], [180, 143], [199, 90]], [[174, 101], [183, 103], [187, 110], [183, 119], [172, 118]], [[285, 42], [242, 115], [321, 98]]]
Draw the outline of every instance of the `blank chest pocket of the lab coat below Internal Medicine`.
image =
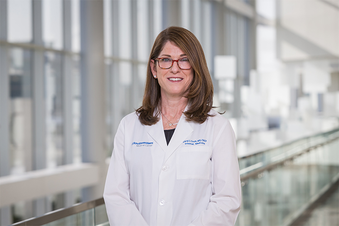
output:
[[209, 180], [211, 147], [180, 148], [176, 154], [176, 179]]

